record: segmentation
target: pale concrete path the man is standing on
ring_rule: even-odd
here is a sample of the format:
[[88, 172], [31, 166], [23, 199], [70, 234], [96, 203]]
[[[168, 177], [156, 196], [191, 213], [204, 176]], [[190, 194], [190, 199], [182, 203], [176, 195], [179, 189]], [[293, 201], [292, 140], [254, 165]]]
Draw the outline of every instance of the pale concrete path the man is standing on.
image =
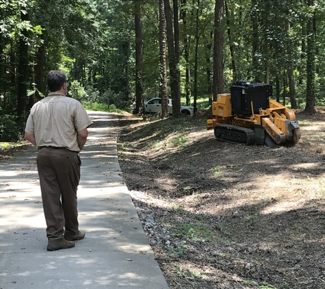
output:
[[0, 289], [168, 288], [124, 184], [118, 119], [89, 112], [75, 248], [47, 251], [35, 147], [0, 161]]

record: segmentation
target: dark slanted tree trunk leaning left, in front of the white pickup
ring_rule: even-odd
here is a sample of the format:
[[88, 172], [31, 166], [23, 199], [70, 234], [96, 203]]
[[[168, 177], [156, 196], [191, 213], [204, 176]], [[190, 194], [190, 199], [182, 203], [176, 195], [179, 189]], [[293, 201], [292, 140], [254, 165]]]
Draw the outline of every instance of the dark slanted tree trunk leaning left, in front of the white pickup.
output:
[[170, 9], [169, 0], [164, 0], [167, 43], [168, 43], [168, 60], [170, 73], [170, 88], [172, 90], [172, 114], [174, 116], [181, 115], [181, 97], [179, 95], [179, 81], [178, 81], [178, 62], [177, 55], [174, 48], [174, 35], [172, 33], [172, 11]]

